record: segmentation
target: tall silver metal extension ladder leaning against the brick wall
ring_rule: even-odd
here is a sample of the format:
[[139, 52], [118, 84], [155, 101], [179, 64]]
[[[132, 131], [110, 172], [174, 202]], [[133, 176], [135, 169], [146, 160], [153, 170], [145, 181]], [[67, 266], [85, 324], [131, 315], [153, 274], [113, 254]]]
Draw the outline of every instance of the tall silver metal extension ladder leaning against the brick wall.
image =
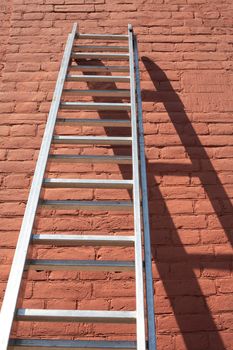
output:
[[[106, 41], [126, 41], [124, 46], [76, 45], [75, 40], [91, 39]], [[96, 52], [95, 52], [96, 51]], [[116, 51], [116, 52], [114, 52]], [[108, 52], [108, 53], [106, 53]], [[129, 65], [77, 65], [74, 69], [85, 72], [84, 75], [69, 74], [70, 65], [77, 59], [98, 59], [107, 61], [126, 60]], [[86, 72], [128, 72], [129, 75], [86, 75]], [[130, 89], [116, 90], [70, 90], [70, 94], [89, 96], [130, 97], [130, 103], [97, 103], [97, 102], [63, 102], [66, 81], [101, 81], [129, 82]], [[107, 110], [128, 111], [131, 121], [120, 119], [67, 119], [59, 118], [62, 109], [75, 110]], [[109, 136], [57, 136], [54, 135], [56, 124], [91, 125], [104, 127], [130, 127], [131, 137]], [[50, 155], [51, 144], [98, 144], [127, 145], [132, 147], [132, 157], [82, 156], [82, 155]], [[140, 147], [139, 147], [140, 146]], [[140, 156], [140, 162], [139, 162]], [[132, 164], [132, 180], [100, 180], [100, 179], [59, 179], [45, 178], [48, 160], [75, 162], [106, 162]], [[140, 179], [141, 171], [141, 179]], [[155, 350], [155, 322], [153, 304], [153, 281], [150, 252], [150, 227], [148, 217], [148, 198], [146, 183], [146, 163], [144, 155], [144, 137], [142, 123], [142, 103], [136, 36], [132, 26], [128, 26], [127, 35], [113, 34], [80, 34], [77, 24], [69, 34], [57, 83], [51, 103], [50, 112], [42, 140], [37, 165], [32, 180], [31, 190], [17, 242], [17, 247], [3, 299], [0, 313], [0, 349], [1, 350], [47, 350], [47, 349], [137, 349]], [[141, 181], [141, 183], [140, 183]], [[43, 187], [53, 188], [127, 188], [133, 193], [131, 201], [78, 201], [78, 200], [42, 200]], [[142, 195], [142, 205], [140, 200]], [[132, 236], [95, 236], [95, 235], [59, 235], [33, 234], [33, 226], [37, 209], [40, 206], [53, 209], [91, 209], [91, 210], [133, 210], [134, 235]], [[143, 222], [142, 222], [143, 218]], [[142, 241], [142, 238], [144, 242]], [[53, 245], [93, 245], [93, 246], [128, 246], [134, 247], [135, 261], [103, 261], [103, 260], [29, 260], [28, 249], [31, 244]], [[143, 258], [144, 244], [144, 258]], [[100, 271], [135, 271], [136, 310], [135, 311], [79, 311], [18, 309], [17, 301], [25, 269], [34, 270], [100, 270]], [[144, 278], [145, 270], [145, 278]], [[144, 299], [144, 280], [146, 284], [146, 302]], [[147, 305], [147, 317], [145, 310]], [[47, 321], [47, 322], [103, 322], [103, 323], [135, 323], [136, 341], [84, 341], [84, 340], [44, 340], [44, 339], [10, 339], [13, 321]], [[147, 328], [147, 331], [146, 331]], [[147, 334], [147, 335], [146, 335]]]

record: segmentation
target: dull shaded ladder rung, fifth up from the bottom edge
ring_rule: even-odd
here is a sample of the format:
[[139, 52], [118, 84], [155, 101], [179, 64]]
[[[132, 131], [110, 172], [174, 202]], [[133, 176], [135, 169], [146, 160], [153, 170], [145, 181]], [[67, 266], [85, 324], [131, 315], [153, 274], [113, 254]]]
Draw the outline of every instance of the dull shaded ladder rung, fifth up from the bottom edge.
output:
[[131, 211], [131, 201], [76, 201], [76, 200], [40, 200], [39, 204], [49, 209], [83, 209], [83, 210], [116, 210]]

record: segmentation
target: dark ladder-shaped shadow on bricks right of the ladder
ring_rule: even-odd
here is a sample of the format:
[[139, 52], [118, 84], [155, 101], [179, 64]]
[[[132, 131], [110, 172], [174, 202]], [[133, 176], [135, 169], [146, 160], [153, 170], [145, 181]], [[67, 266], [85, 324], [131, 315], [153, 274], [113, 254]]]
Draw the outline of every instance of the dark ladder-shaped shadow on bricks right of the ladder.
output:
[[[142, 62], [155, 88], [153, 91], [142, 91], [143, 101], [160, 101], [163, 103], [170, 122], [175, 128], [190, 161], [190, 165], [169, 164], [159, 162], [159, 160], [155, 164], [150, 164], [147, 161], [149, 186], [150, 192], [152, 192], [149, 203], [151, 238], [154, 245], [152, 253], [156, 262], [158, 279], [163, 284], [163, 287], [158, 285], [158, 290], [156, 290], [158, 299], [155, 299], [155, 303], [159, 305], [161, 302], [159, 299], [161, 298], [162, 303], [166, 302], [166, 298], [170, 303], [167, 311], [166, 303], [165, 311], [161, 307], [158, 310], [158, 328], [161, 329], [161, 333], [158, 333], [158, 335], [169, 334], [169, 328], [173, 328], [173, 334], [181, 334], [185, 344], [184, 348], [187, 350], [197, 348], [200, 350], [224, 350], [226, 347], [219, 334], [219, 331], [223, 329], [219, 316], [212, 315], [206, 301], [206, 297], [215, 294], [213, 281], [208, 278], [208, 270], [230, 272], [232, 269], [232, 254], [214, 255], [211, 251], [208, 252], [208, 249], [207, 252], [204, 251], [201, 254], [198, 245], [194, 247], [193, 253], [188, 253], [190, 250], [185, 249], [179, 233], [179, 228], [182, 228], [182, 215], [181, 221], [174, 223], [172, 215], [166, 207], [164, 196], [159, 189], [159, 184], [156, 183], [155, 175], [191, 175], [198, 177], [231, 246], [233, 235], [230, 226], [233, 224], [233, 218], [230, 215], [224, 215], [224, 208], [226, 208], [227, 214], [232, 215], [232, 204], [206, 150], [185, 113], [180, 97], [174, 91], [166, 74], [148, 57], [143, 57]], [[166, 85], [166, 90], [160, 82], [163, 82], [163, 86]], [[170, 103], [171, 101], [172, 103]], [[174, 106], [176, 113], [174, 113]], [[176, 120], [178, 113], [179, 124]], [[188, 128], [188, 136], [182, 132], [182, 125]], [[190, 148], [190, 142], [191, 145], [195, 145], [195, 151]], [[207, 171], [197, 170], [196, 162], [200, 159], [205, 159]], [[213, 185], [208, 184], [209, 174], [211, 174], [214, 190]], [[160, 204], [158, 205], [158, 203]], [[222, 208], [222, 210], [219, 208]], [[205, 246], [203, 247], [205, 248]], [[199, 278], [201, 274], [204, 278]], [[169, 316], [171, 312], [169, 307], [172, 308], [174, 319]], [[194, 345], [195, 342], [196, 345]], [[198, 347], [198, 342], [200, 347]]]

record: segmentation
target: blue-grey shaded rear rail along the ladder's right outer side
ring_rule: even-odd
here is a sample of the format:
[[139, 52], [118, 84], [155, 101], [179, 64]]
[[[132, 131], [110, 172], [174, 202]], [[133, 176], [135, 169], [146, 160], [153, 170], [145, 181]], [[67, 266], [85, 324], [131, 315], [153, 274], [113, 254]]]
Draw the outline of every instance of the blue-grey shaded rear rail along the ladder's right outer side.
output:
[[147, 171], [145, 159], [145, 142], [142, 113], [142, 97], [140, 87], [140, 71], [137, 39], [134, 36], [134, 57], [135, 57], [135, 79], [137, 95], [137, 113], [138, 113], [138, 131], [139, 131], [139, 155], [140, 155], [140, 172], [141, 172], [141, 191], [142, 191], [142, 212], [143, 212], [143, 231], [144, 231], [144, 261], [146, 274], [146, 302], [147, 302], [147, 325], [148, 325], [148, 350], [156, 350], [156, 326], [154, 316], [154, 286], [152, 273], [152, 256], [151, 256], [151, 238], [150, 238], [150, 221], [148, 207], [148, 190], [147, 190]]

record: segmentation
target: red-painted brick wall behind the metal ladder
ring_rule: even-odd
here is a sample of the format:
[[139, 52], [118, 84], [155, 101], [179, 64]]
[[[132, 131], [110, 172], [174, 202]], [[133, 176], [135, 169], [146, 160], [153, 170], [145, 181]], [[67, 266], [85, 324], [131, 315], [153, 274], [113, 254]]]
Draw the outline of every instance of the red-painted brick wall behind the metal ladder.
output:
[[[0, 9], [0, 296], [67, 33], [74, 21], [82, 32], [97, 33], [125, 33], [131, 22], [142, 58], [158, 349], [233, 349], [232, 1], [2, 0]], [[54, 176], [68, 177], [70, 170], [67, 165], [49, 168]], [[89, 164], [75, 166], [72, 176], [109, 177], [110, 170], [128, 176], [121, 168]], [[80, 190], [78, 198], [109, 198], [109, 192]], [[65, 211], [42, 212], [36, 228], [100, 234], [132, 230], [127, 215], [81, 212], [77, 220], [72, 213], [68, 224], [67, 217]], [[30, 254], [132, 258], [129, 249], [92, 247], [41, 247]], [[23, 307], [134, 308], [132, 274], [33, 272], [27, 277]], [[50, 337], [63, 338], [101, 338], [107, 332], [113, 338], [117, 329], [118, 339], [133, 337], [132, 327], [116, 325], [27, 323], [16, 325], [14, 332], [46, 337], [49, 331]]]

